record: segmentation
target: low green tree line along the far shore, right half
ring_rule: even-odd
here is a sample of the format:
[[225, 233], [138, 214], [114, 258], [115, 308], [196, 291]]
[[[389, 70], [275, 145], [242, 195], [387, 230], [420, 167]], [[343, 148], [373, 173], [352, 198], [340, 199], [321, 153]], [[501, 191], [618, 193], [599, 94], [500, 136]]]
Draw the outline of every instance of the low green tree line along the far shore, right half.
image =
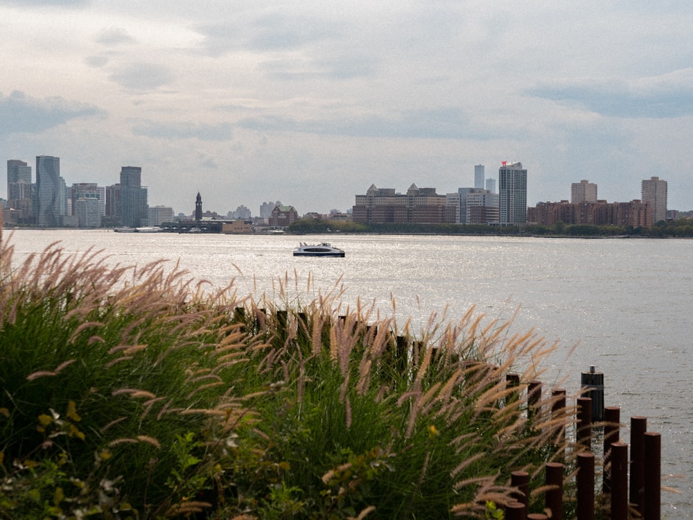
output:
[[374, 234], [441, 234], [441, 235], [523, 235], [523, 236], [693, 236], [693, 218], [660, 221], [652, 227], [565, 224], [517, 226], [481, 224], [362, 224], [319, 218], [304, 218], [292, 223], [293, 234], [374, 233]]

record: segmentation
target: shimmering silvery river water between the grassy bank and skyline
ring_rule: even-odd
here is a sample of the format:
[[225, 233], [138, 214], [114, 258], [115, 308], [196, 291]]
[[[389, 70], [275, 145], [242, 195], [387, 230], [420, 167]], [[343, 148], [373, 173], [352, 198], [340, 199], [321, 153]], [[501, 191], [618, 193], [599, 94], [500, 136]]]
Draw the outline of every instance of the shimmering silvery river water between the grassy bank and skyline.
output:
[[[292, 257], [299, 241], [324, 239], [347, 256]], [[606, 405], [620, 406], [622, 422], [644, 415], [648, 430], [662, 434], [663, 485], [678, 490], [663, 492], [663, 517], [693, 518], [693, 241], [65, 229], [21, 229], [10, 241], [15, 261], [54, 241], [68, 252], [93, 246], [112, 263], [171, 259], [213, 286], [234, 279], [239, 295], [256, 299], [308, 302], [336, 284], [344, 306], [360, 300], [399, 327], [411, 319], [414, 335], [432, 313], [456, 322], [475, 306], [488, 320], [507, 320], [519, 309], [512, 331], [533, 327], [559, 341], [545, 385], [560, 381], [577, 392], [581, 372], [595, 365]], [[621, 435], [628, 442], [627, 426]]]

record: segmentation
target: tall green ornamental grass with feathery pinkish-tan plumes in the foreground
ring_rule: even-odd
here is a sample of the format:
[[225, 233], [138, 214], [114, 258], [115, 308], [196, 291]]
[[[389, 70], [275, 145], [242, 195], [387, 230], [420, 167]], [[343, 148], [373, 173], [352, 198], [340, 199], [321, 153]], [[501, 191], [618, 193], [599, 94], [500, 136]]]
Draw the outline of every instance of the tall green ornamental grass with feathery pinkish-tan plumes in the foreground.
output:
[[15, 265], [3, 241], [0, 517], [484, 518], [518, 469], [542, 510], [543, 464], [579, 451], [572, 410], [527, 402], [552, 345], [289, 283], [238, 295], [58, 244]]

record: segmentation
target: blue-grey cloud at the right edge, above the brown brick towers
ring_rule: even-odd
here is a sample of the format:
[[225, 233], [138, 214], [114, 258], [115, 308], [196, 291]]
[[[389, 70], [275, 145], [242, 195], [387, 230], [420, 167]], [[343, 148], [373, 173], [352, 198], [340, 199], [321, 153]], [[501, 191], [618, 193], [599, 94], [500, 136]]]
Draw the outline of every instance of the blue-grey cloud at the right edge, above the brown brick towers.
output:
[[660, 76], [543, 82], [531, 96], [579, 105], [603, 116], [671, 118], [693, 114], [693, 69]]

